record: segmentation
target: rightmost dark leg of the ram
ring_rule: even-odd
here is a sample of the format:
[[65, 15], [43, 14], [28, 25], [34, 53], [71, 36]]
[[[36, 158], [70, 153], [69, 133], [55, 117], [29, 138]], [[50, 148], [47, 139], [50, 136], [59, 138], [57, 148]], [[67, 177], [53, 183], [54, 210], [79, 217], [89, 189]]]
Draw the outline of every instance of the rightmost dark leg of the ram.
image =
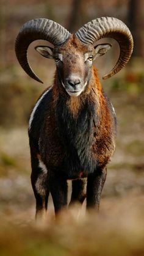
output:
[[107, 169], [97, 168], [93, 174], [87, 178], [87, 208], [99, 210], [101, 192], [106, 180]]

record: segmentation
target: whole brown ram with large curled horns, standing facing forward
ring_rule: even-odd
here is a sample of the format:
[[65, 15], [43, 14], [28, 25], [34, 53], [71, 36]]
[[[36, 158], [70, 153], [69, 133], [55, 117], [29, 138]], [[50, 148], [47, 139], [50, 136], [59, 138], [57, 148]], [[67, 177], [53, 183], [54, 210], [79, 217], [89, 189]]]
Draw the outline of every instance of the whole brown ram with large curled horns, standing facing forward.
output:
[[120, 45], [117, 64], [103, 77], [106, 79], [128, 63], [133, 49], [131, 32], [117, 18], [97, 18], [76, 34], [41, 18], [24, 24], [16, 38], [16, 56], [31, 78], [41, 82], [27, 60], [27, 48], [34, 40], [52, 43], [54, 48], [35, 49], [56, 62], [54, 83], [40, 96], [29, 120], [36, 218], [45, 215], [49, 192], [56, 214], [67, 207], [67, 180], [72, 180], [70, 204], [82, 203], [87, 197], [87, 208], [99, 209], [117, 133], [115, 111], [92, 65], [112, 46], [96, 45], [104, 37], [112, 37]]

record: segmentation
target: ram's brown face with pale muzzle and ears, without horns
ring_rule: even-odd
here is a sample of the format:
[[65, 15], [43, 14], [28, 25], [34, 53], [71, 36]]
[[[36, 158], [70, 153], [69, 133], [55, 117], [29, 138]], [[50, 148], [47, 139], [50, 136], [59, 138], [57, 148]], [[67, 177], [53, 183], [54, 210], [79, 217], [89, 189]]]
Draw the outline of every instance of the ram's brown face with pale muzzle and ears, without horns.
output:
[[[107, 48], [110, 45], [103, 45], [105, 51]], [[62, 87], [68, 95], [75, 97], [85, 90], [90, 81], [93, 59], [104, 54], [99, 54], [98, 46], [94, 48], [92, 45], [85, 45], [75, 35], [71, 35], [67, 42], [54, 49], [48, 46], [37, 46], [35, 49], [44, 57], [55, 60]]]

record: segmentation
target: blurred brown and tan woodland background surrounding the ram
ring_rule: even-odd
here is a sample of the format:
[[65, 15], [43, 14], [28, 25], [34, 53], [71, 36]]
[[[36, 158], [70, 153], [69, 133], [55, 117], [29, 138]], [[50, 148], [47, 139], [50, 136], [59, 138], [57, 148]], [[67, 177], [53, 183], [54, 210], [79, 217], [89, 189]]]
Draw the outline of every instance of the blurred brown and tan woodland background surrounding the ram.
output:
[[[35, 45], [48, 43], [37, 41], [29, 47], [28, 56], [44, 86], [29, 78], [15, 57], [16, 35], [26, 21], [34, 18], [49, 18], [75, 32], [100, 16], [114, 16], [124, 21], [134, 37], [131, 60], [113, 78], [102, 81], [102, 76], [117, 62], [117, 42], [109, 38], [103, 40], [112, 43], [113, 47], [94, 63], [118, 119], [117, 147], [109, 164], [101, 212], [111, 216], [113, 207], [123, 200], [121, 208], [127, 210], [126, 205], [134, 198], [140, 198], [139, 205], [144, 202], [144, 1], [0, 0], [0, 219], [4, 219], [5, 223], [13, 222], [21, 227], [34, 219], [35, 199], [30, 182], [27, 123], [37, 98], [46, 87], [51, 86], [55, 71], [53, 60], [39, 56], [34, 49]], [[52, 208], [51, 199], [49, 208]], [[1, 255], [9, 253], [14, 255], [9, 250]], [[16, 255], [19, 255], [18, 252]]]

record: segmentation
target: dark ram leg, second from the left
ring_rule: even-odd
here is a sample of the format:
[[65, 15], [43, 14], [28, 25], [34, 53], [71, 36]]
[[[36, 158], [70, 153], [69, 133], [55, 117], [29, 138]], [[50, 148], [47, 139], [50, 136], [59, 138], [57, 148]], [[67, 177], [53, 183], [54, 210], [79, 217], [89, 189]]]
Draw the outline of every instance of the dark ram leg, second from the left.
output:
[[56, 174], [54, 171], [51, 172], [51, 178], [49, 181], [50, 192], [54, 203], [55, 213], [59, 213], [60, 210], [67, 206], [67, 180]]

